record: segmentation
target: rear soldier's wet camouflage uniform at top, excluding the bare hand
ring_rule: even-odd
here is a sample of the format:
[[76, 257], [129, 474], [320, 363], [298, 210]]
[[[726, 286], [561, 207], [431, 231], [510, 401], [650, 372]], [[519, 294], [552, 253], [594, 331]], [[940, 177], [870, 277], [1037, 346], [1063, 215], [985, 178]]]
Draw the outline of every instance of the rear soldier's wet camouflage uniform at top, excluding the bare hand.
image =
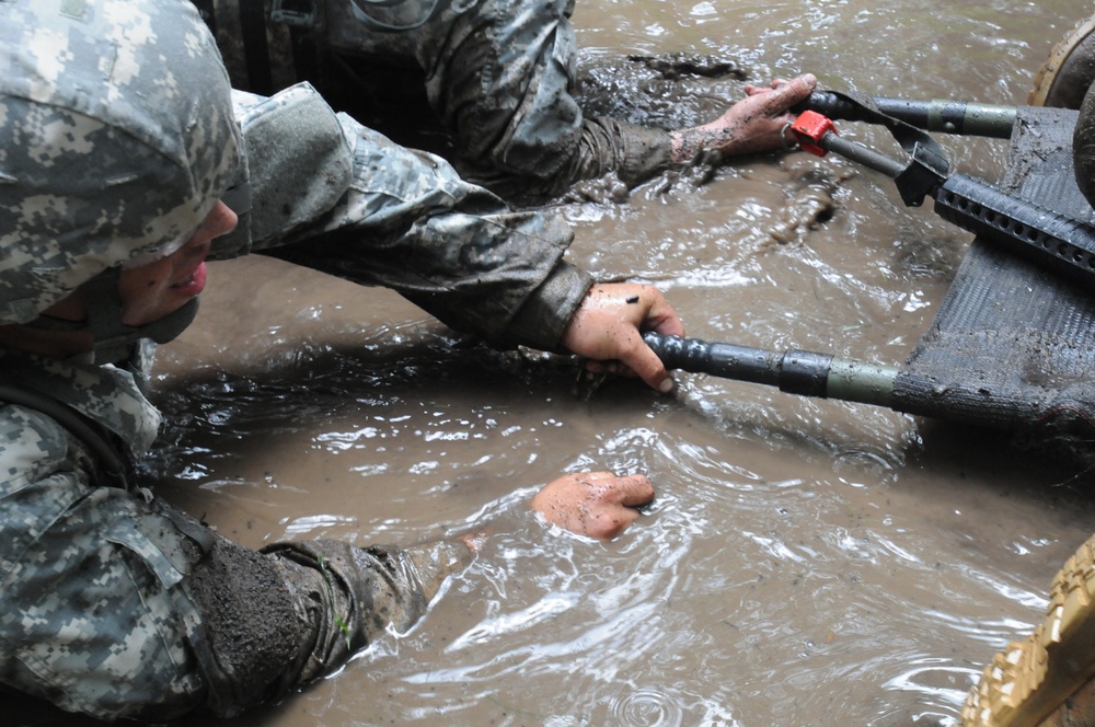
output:
[[[318, 10], [315, 27], [292, 32], [314, 43], [314, 51], [290, 42], [289, 26], [267, 15], [273, 89], [308, 80], [359, 118], [383, 117], [392, 109], [372, 108], [371, 90], [403, 80], [392, 67], [419, 69], [429, 105], [454, 136], [453, 163], [465, 178], [498, 194], [554, 196], [610, 172], [637, 184], [670, 164], [666, 131], [584, 116], [573, 95], [574, 0], [311, 4]], [[427, 23], [397, 33], [360, 18], [368, 13], [373, 23], [412, 26], [434, 5]], [[239, 0], [212, 2], [212, 14], [233, 84], [262, 91], [249, 73]]]

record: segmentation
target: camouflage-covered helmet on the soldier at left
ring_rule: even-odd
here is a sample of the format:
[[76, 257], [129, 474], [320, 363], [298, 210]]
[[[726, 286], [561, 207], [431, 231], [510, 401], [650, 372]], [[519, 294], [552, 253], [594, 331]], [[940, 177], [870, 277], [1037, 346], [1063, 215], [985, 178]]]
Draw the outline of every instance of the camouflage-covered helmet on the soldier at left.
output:
[[181, 244], [240, 149], [189, 2], [0, 2], [0, 324]]

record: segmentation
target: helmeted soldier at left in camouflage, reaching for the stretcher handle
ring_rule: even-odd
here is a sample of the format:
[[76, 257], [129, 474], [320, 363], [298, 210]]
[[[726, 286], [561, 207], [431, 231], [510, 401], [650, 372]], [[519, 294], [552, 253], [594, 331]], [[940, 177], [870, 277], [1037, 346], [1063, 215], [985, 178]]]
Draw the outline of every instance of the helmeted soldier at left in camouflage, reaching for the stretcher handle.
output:
[[[471, 556], [255, 552], [134, 482], [160, 416], [152, 342], [193, 318], [210, 251], [388, 285], [668, 390], [639, 328], [680, 320], [650, 287], [595, 285], [562, 259], [569, 239], [308, 86], [233, 97], [186, 0], [0, 2], [0, 683], [104, 719], [233, 715], [412, 624]], [[642, 475], [592, 473], [533, 508], [607, 538], [652, 497]]]

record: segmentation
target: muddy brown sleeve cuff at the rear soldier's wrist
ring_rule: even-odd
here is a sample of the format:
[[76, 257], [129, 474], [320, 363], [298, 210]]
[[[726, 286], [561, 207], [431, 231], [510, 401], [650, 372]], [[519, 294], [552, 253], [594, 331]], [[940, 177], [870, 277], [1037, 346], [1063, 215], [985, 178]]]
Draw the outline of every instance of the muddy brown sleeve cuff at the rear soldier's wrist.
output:
[[635, 186], [672, 163], [672, 140], [668, 131], [607, 116], [587, 118], [578, 143], [574, 181], [615, 171], [627, 186]]

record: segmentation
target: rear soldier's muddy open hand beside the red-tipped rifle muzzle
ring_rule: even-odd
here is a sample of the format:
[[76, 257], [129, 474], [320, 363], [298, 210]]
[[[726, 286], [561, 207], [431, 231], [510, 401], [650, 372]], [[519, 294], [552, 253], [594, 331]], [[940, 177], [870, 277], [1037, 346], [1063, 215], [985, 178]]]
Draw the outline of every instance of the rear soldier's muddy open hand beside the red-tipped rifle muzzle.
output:
[[746, 86], [746, 97], [711, 124], [670, 132], [675, 162], [695, 158], [704, 149], [724, 154], [756, 154], [785, 149], [784, 127], [795, 115], [791, 107], [814, 92], [817, 78], [805, 73], [770, 86]]

